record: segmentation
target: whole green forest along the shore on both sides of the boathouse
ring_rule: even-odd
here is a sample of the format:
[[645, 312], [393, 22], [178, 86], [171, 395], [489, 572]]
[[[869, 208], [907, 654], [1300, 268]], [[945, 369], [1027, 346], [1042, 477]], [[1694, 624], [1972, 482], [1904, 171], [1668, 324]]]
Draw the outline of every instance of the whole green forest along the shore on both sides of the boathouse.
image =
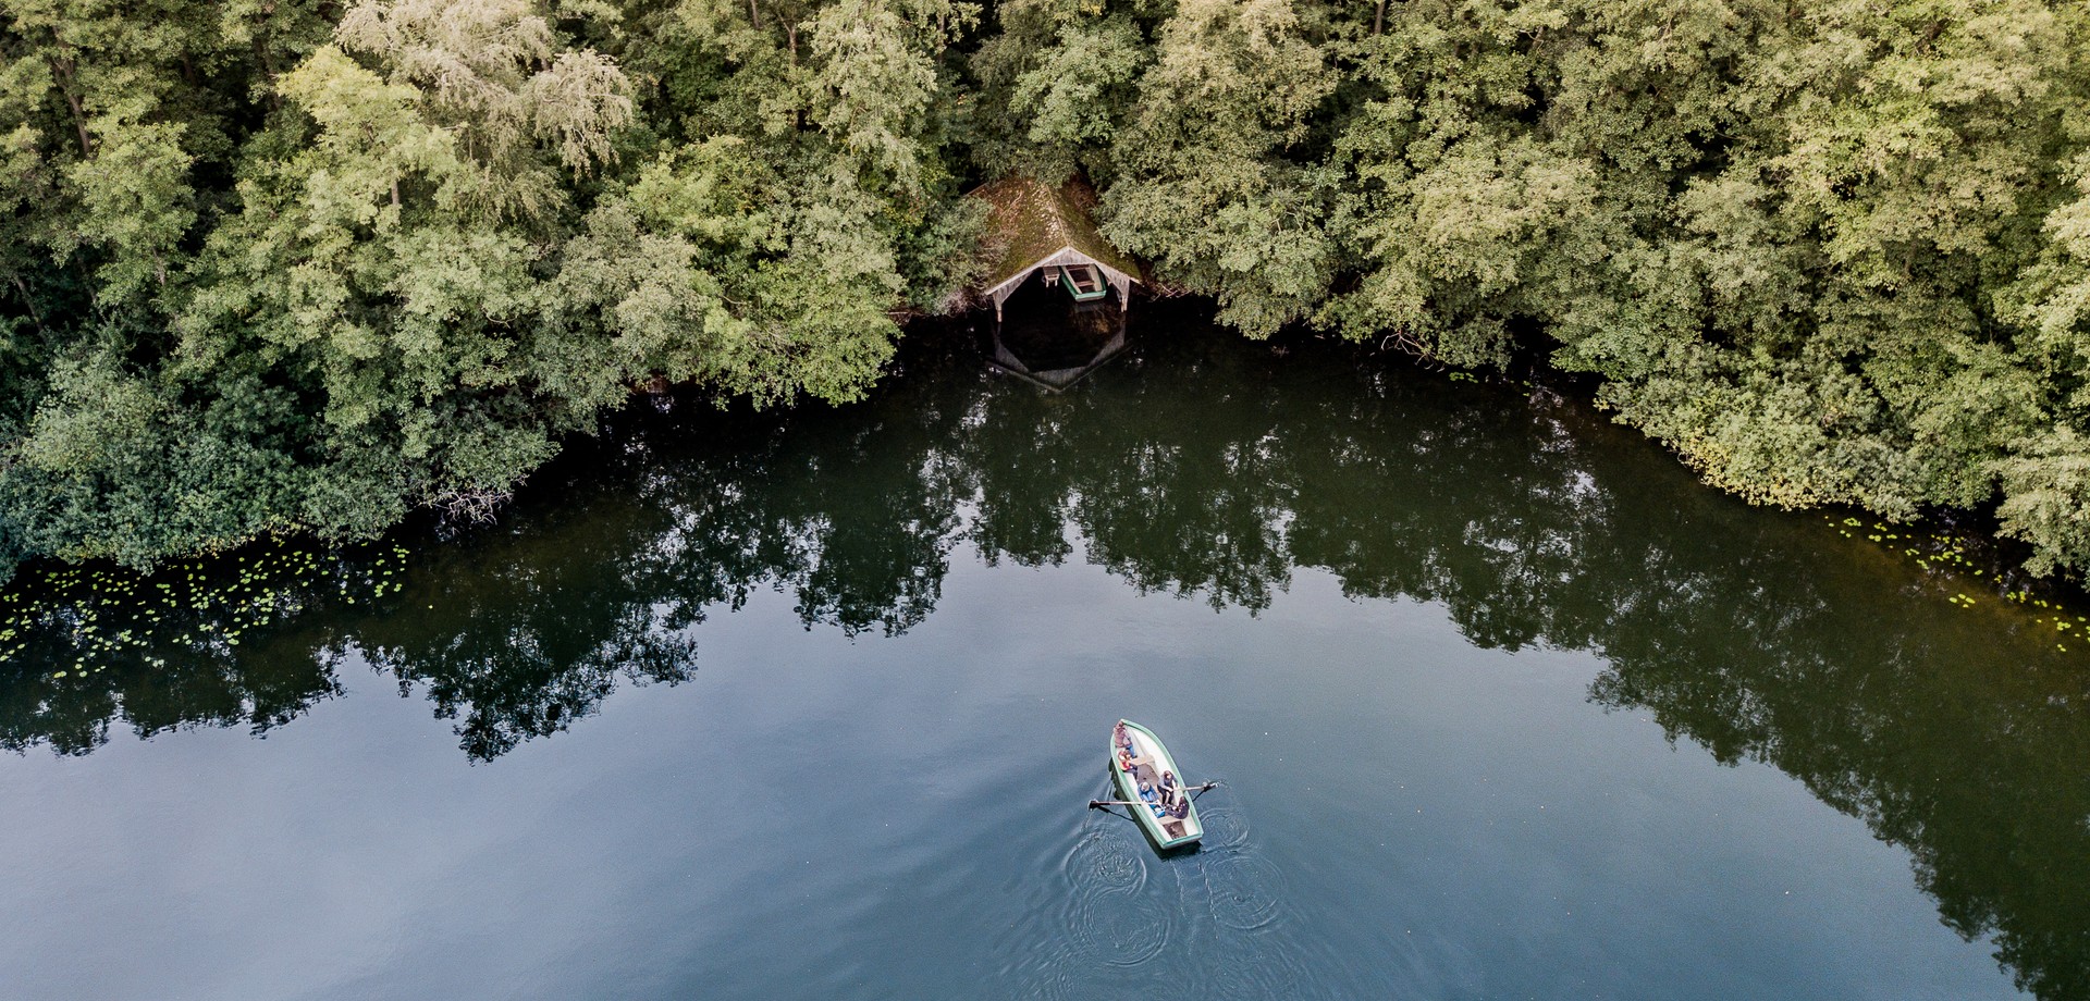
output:
[[2052, 0], [6, 0], [0, 577], [497, 506], [633, 387], [861, 397], [999, 173], [1248, 336], [2090, 568]]

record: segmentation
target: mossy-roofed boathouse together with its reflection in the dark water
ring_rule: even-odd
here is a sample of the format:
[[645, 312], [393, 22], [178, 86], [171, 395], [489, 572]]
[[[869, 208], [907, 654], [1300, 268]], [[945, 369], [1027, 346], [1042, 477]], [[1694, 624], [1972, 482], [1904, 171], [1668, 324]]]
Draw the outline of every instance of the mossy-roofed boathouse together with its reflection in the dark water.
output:
[[970, 196], [993, 207], [976, 290], [995, 303], [995, 368], [1058, 393], [1122, 351], [1141, 270], [1095, 230], [1095, 190], [1003, 178]]

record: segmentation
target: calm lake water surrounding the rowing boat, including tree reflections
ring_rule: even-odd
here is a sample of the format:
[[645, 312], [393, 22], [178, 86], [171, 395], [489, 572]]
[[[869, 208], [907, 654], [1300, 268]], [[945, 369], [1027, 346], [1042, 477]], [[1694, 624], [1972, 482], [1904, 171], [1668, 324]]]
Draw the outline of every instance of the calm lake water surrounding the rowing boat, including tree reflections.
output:
[[[1542, 389], [938, 339], [489, 529], [17, 591], [0, 997], [2090, 997], [2052, 612]], [[1120, 715], [1202, 851], [1083, 809]]]

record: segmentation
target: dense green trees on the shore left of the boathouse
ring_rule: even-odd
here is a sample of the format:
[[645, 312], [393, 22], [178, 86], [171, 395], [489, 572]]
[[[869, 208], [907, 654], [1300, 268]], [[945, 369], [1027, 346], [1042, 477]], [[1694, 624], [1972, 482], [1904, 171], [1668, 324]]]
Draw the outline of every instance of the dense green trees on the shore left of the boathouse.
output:
[[0, 566], [485, 516], [658, 378], [859, 397], [895, 309], [968, 276], [938, 104], [972, 23], [10, 4]]

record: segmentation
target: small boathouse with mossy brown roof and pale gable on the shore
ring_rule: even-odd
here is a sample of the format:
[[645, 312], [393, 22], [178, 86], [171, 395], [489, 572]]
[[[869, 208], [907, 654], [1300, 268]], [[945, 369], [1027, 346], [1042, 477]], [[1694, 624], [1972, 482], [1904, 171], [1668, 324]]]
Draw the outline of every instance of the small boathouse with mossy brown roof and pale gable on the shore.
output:
[[1003, 178], [974, 188], [968, 199], [991, 207], [986, 276], [978, 295], [995, 301], [995, 320], [1001, 320], [1001, 303], [1035, 274], [1064, 286], [1076, 301], [1118, 293], [1118, 309], [1131, 305], [1139, 263], [1095, 230], [1095, 188], [1081, 178], [1058, 188], [1030, 178]]

